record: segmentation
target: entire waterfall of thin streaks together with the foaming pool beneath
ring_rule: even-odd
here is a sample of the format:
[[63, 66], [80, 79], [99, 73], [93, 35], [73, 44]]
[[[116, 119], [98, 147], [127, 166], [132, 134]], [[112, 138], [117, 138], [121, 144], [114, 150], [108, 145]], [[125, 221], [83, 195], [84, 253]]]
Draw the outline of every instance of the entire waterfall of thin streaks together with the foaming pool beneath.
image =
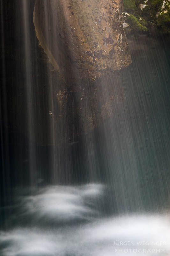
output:
[[34, 4], [1, 1], [0, 254], [169, 255], [169, 36], [132, 37], [127, 68], [63, 82]]

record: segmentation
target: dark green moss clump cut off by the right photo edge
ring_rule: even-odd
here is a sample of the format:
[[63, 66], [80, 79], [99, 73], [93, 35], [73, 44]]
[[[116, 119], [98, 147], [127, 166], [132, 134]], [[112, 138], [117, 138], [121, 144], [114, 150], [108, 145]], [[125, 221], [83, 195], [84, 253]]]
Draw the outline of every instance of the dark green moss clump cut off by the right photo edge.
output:
[[161, 12], [158, 16], [158, 27], [162, 30], [163, 33], [170, 33], [170, 11], [166, 13]]

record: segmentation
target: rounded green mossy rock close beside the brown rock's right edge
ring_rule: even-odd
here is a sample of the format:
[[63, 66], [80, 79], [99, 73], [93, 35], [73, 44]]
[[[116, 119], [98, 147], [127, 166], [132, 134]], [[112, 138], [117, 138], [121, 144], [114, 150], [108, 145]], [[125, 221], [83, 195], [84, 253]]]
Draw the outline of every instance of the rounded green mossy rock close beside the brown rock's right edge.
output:
[[135, 34], [144, 33], [148, 31], [148, 29], [145, 26], [143, 26], [134, 15], [130, 13], [123, 13], [123, 19], [129, 25], [129, 27], [125, 29], [126, 34], [129, 32]]

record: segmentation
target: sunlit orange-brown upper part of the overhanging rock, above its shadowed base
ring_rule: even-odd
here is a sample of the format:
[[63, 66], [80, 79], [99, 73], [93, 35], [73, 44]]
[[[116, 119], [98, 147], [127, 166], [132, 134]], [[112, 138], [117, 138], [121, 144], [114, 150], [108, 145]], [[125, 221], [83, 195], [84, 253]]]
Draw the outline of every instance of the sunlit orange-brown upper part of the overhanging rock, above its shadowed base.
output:
[[131, 63], [122, 0], [35, 1], [34, 25], [53, 67], [67, 81], [95, 79]]

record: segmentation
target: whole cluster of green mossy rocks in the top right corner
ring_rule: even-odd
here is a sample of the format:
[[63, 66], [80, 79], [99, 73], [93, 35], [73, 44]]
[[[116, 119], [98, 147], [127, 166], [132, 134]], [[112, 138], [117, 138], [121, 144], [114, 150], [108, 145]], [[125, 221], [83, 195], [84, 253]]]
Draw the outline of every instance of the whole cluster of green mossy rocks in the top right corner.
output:
[[170, 33], [170, 0], [124, 0], [123, 26], [127, 36], [150, 27]]

